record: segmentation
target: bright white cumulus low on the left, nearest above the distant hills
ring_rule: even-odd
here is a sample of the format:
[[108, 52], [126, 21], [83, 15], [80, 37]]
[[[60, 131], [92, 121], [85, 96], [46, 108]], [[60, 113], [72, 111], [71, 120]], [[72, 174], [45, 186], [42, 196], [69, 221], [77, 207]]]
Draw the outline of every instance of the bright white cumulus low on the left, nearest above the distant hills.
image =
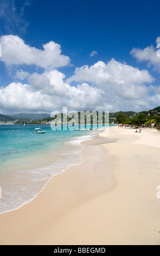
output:
[[77, 87], [63, 82], [65, 76], [57, 71], [34, 73], [30, 84], [11, 83], [0, 89], [0, 109], [12, 112], [52, 112], [67, 106], [71, 110], [84, 110], [101, 106], [101, 90], [88, 84]]

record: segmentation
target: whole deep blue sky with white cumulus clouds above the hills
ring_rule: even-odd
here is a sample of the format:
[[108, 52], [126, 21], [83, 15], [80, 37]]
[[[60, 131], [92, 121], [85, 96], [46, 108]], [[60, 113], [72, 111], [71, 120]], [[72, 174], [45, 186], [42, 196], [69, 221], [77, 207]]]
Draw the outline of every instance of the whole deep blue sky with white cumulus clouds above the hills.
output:
[[159, 9], [159, 0], [0, 0], [0, 113], [160, 106]]

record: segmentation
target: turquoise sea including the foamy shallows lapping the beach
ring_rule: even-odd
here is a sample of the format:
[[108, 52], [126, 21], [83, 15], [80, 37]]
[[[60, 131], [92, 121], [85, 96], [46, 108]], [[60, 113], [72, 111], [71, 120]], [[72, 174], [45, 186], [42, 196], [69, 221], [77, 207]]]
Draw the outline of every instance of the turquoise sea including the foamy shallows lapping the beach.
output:
[[33, 132], [35, 125], [0, 125], [0, 214], [33, 200], [55, 175], [83, 162], [82, 141], [96, 131]]

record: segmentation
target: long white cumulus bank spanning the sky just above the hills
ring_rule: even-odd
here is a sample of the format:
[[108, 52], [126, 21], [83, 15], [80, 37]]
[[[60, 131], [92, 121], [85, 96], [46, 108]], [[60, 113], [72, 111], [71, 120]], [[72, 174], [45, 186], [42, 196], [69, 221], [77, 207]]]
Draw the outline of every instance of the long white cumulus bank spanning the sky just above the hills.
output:
[[[153, 78], [148, 72], [111, 60], [110, 72], [105, 73], [105, 63], [96, 63], [90, 68], [85, 66], [86, 82], [79, 78], [79, 69], [76, 70], [76, 80], [81, 80], [76, 86], [71, 86], [65, 80], [65, 75], [57, 70], [46, 70], [42, 74], [29, 75], [29, 84], [11, 83], [0, 89], [0, 108], [6, 111], [43, 111], [52, 112], [67, 106], [69, 110], [106, 110], [140, 111], [150, 108], [150, 105], [159, 103], [160, 89], [146, 86], [144, 82], [151, 82]], [[111, 63], [110, 63], [111, 64]], [[125, 72], [123, 68], [126, 68]], [[98, 69], [98, 70], [97, 70]], [[92, 71], [91, 73], [89, 71]], [[111, 72], [112, 70], [112, 72]], [[130, 74], [127, 75], [127, 72]], [[142, 72], [142, 73], [141, 73]], [[121, 74], [122, 73], [122, 74]], [[94, 74], [94, 77], [92, 77]], [[137, 76], [137, 77], [136, 77]], [[75, 79], [75, 78], [74, 78]], [[74, 80], [72, 77], [72, 81]], [[88, 83], [87, 83], [88, 81]], [[94, 84], [89, 84], [92, 82]], [[152, 92], [152, 96], [149, 93]], [[23, 109], [23, 110], [22, 110]]]

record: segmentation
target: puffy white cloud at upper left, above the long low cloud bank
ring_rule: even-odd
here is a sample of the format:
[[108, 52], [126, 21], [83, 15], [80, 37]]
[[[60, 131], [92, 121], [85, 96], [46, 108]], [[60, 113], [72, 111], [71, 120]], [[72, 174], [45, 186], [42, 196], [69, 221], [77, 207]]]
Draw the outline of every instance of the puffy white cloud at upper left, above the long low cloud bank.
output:
[[50, 41], [43, 45], [43, 50], [31, 47], [17, 35], [1, 36], [1, 61], [6, 66], [36, 65], [44, 69], [59, 68], [70, 63], [68, 56], [61, 54], [61, 46]]

